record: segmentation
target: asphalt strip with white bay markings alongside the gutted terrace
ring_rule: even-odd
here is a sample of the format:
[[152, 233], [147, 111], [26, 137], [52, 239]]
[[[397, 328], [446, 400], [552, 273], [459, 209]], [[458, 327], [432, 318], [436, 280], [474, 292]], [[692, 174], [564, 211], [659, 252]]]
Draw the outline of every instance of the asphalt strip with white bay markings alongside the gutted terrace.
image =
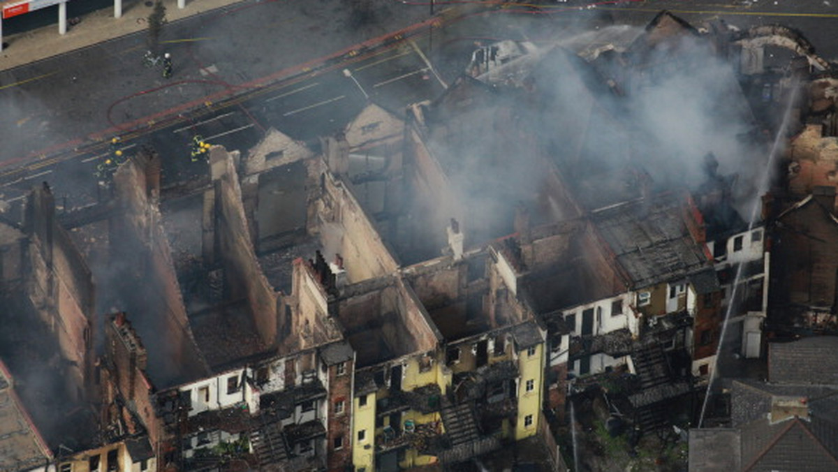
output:
[[[443, 84], [419, 44], [407, 39], [178, 115], [163, 127], [127, 132], [120, 149], [130, 155], [143, 145], [155, 148], [163, 159], [163, 184], [174, 184], [189, 174], [204, 172], [205, 164], [192, 163], [189, 155], [196, 135], [208, 143], [246, 150], [274, 127], [316, 146], [318, 136], [343, 129], [366, 106], [368, 97], [400, 110], [438, 96]], [[15, 202], [23, 199], [32, 184], [46, 181], [59, 197], [59, 206], [89, 205], [100, 197], [92, 175], [108, 153], [107, 143], [101, 143], [59, 154], [45, 165], [8, 169], [0, 188], [7, 202]]]

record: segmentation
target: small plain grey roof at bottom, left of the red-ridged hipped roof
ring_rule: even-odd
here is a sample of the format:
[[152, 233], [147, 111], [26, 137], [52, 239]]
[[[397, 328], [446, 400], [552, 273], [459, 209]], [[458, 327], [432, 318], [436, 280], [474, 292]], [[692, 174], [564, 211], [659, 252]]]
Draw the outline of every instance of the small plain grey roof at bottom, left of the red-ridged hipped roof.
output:
[[706, 428], [690, 431], [690, 472], [739, 470], [741, 456], [738, 429]]

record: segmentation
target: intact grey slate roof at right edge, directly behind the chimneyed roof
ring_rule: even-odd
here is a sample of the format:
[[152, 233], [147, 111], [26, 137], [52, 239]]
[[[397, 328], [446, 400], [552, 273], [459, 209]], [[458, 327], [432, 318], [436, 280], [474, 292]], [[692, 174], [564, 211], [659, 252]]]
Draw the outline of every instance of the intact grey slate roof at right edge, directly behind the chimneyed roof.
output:
[[838, 385], [838, 336], [817, 336], [768, 345], [768, 380]]

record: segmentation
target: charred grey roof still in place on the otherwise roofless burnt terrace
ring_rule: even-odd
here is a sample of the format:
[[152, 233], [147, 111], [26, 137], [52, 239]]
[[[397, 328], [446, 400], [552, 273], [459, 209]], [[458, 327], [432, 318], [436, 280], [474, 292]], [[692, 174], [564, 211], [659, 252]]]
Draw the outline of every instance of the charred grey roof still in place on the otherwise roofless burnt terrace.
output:
[[[679, 199], [659, 196], [594, 210], [597, 231], [628, 272], [634, 288], [698, 274], [711, 262], [692, 240]], [[703, 279], [702, 279], [703, 280]]]

